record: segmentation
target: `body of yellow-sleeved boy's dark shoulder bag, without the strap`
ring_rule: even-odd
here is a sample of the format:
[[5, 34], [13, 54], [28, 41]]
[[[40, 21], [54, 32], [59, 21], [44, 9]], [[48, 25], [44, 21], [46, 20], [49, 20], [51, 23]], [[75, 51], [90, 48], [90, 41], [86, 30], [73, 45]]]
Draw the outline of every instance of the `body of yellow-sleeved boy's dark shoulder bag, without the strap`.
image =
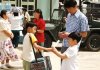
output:
[[52, 65], [49, 56], [38, 58], [37, 62], [31, 62], [31, 70], [52, 70]]

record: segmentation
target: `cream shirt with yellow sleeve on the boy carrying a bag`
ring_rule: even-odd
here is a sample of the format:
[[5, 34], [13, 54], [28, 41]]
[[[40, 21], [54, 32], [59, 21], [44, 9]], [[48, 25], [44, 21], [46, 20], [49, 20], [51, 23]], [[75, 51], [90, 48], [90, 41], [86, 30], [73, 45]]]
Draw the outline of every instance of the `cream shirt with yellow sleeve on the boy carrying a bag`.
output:
[[31, 44], [29, 36], [31, 36], [33, 43], [37, 42], [37, 39], [34, 36], [34, 34], [27, 33], [25, 35], [24, 41], [23, 41], [22, 59], [24, 59], [28, 62], [31, 62], [35, 59], [35, 57], [34, 57], [33, 48], [32, 48], [32, 44]]

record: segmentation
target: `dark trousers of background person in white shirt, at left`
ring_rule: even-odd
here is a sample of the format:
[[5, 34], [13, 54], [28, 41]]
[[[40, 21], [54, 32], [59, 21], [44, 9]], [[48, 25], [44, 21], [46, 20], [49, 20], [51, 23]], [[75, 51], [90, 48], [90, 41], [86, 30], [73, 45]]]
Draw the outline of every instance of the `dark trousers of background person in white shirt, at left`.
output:
[[14, 38], [12, 39], [12, 43], [14, 48], [18, 47], [19, 38], [20, 38], [20, 31], [19, 30], [12, 30], [14, 34]]

